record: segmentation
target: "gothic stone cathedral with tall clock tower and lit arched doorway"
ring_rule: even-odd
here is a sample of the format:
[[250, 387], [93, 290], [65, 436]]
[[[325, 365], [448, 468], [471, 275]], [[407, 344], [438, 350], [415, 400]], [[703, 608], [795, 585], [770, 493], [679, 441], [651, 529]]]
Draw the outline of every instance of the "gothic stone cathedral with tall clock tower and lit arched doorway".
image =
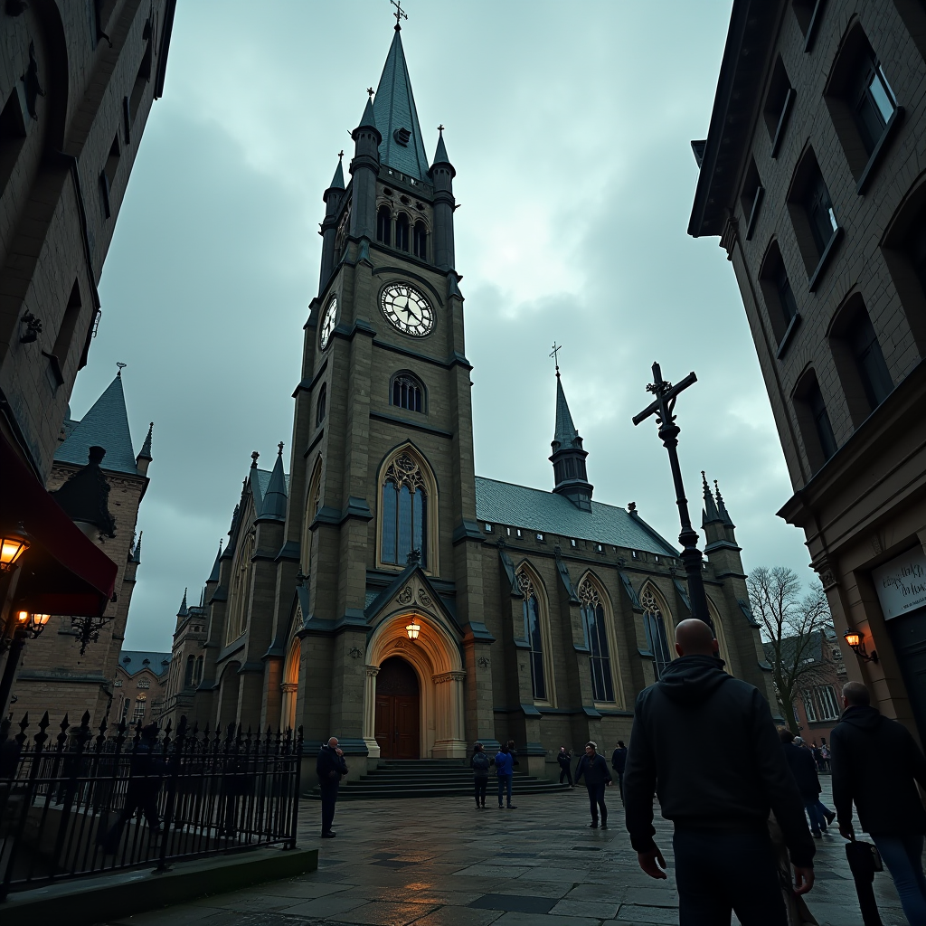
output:
[[[336, 735], [352, 777], [513, 739], [552, 777], [559, 745], [629, 738], [689, 614], [679, 551], [593, 500], [558, 371], [553, 491], [476, 476], [456, 171], [443, 134], [428, 162], [397, 27], [353, 139], [323, 196], [290, 472], [282, 444], [272, 469], [254, 455], [178, 616], [164, 719], [302, 726], [313, 751]], [[774, 705], [732, 520], [704, 490], [721, 656]]]

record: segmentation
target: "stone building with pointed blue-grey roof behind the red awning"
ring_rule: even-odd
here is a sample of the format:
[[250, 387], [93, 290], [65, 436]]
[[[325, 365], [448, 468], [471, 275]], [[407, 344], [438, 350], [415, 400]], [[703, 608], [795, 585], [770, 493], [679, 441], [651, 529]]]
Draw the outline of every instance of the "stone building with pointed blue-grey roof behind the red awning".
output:
[[[58, 490], [77, 481], [76, 496], [72, 493], [64, 498], [62, 505], [119, 570], [114, 600], [106, 605], [102, 620], [94, 623], [97, 629], [89, 639], [81, 638], [86, 618], [55, 614], [43, 634], [28, 644], [13, 687], [17, 715], [28, 710], [31, 716], [41, 717], [48, 710], [56, 723], [65, 714], [74, 720], [89, 710], [94, 722], [99, 722], [109, 709], [131, 594], [142, 561], [142, 537], [136, 540], [135, 530], [148, 486], [151, 431], [149, 427], [136, 456], [121, 370], [81, 420], [67, 419], [62, 426], [48, 487], [60, 499]], [[88, 463], [92, 447], [106, 451], [95, 468]], [[88, 493], [82, 483], [91, 475], [93, 488]], [[99, 494], [94, 494], [97, 487]], [[94, 500], [92, 506], [85, 504], [88, 494]], [[97, 510], [100, 506], [105, 510]]]

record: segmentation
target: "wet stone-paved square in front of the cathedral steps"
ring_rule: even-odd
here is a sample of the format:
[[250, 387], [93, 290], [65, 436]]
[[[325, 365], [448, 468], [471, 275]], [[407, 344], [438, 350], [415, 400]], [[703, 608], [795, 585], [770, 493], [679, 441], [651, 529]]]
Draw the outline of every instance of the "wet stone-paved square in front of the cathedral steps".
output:
[[[829, 782], [824, 785], [824, 802]], [[490, 800], [492, 795], [490, 795]], [[319, 870], [233, 894], [112, 920], [124, 926], [622, 926], [677, 923], [671, 826], [657, 819], [669, 880], [638, 868], [619, 795], [609, 828], [587, 828], [584, 788], [516, 796], [518, 808], [475, 810], [464, 799], [357, 801], [338, 807], [336, 839], [318, 838], [319, 805], [302, 807], [300, 845]], [[845, 841], [818, 841], [807, 897], [821, 926], [860, 924]], [[905, 926], [894, 885], [875, 876], [884, 926]]]

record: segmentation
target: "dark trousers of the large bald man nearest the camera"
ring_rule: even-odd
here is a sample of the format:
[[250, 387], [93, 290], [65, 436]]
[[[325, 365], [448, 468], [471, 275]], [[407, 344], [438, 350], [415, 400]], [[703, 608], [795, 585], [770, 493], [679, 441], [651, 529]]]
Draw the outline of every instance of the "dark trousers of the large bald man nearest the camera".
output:
[[778, 863], [767, 831], [676, 829], [680, 926], [786, 926]]

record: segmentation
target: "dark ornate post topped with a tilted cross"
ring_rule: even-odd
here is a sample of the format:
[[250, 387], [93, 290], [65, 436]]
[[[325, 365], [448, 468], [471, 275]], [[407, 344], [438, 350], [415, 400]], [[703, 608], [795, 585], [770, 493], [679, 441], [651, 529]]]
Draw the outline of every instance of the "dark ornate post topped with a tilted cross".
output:
[[682, 382], [677, 382], [673, 386], [662, 378], [662, 370], [659, 369], [657, 363], [654, 363], [653, 382], [646, 386], [646, 392], [654, 394], [656, 400], [645, 407], [639, 415], [633, 416], [633, 424], [640, 424], [650, 415], [656, 416], [659, 437], [666, 450], [669, 451], [669, 467], [672, 470], [672, 482], [675, 483], [675, 504], [679, 507], [679, 520], [682, 522], [679, 543], [682, 544], [682, 563], [688, 576], [688, 596], [692, 604], [692, 617], [703, 620], [713, 627], [710, 613], [707, 610], [707, 594], [704, 591], [704, 576], [701, 574], [702, 560], [701, 551], [697, 548], [697, 532], [692, 527], [691, 518], [688, 515], [688, 499], [685, 498], [682, 469], [679, 467], [677, 447], [679, 432], [682, 429], [675, 423], [675, 416], [672, 414], [679, 394], [694, 382], [697, 382], [697, 377], [692, 372]]

